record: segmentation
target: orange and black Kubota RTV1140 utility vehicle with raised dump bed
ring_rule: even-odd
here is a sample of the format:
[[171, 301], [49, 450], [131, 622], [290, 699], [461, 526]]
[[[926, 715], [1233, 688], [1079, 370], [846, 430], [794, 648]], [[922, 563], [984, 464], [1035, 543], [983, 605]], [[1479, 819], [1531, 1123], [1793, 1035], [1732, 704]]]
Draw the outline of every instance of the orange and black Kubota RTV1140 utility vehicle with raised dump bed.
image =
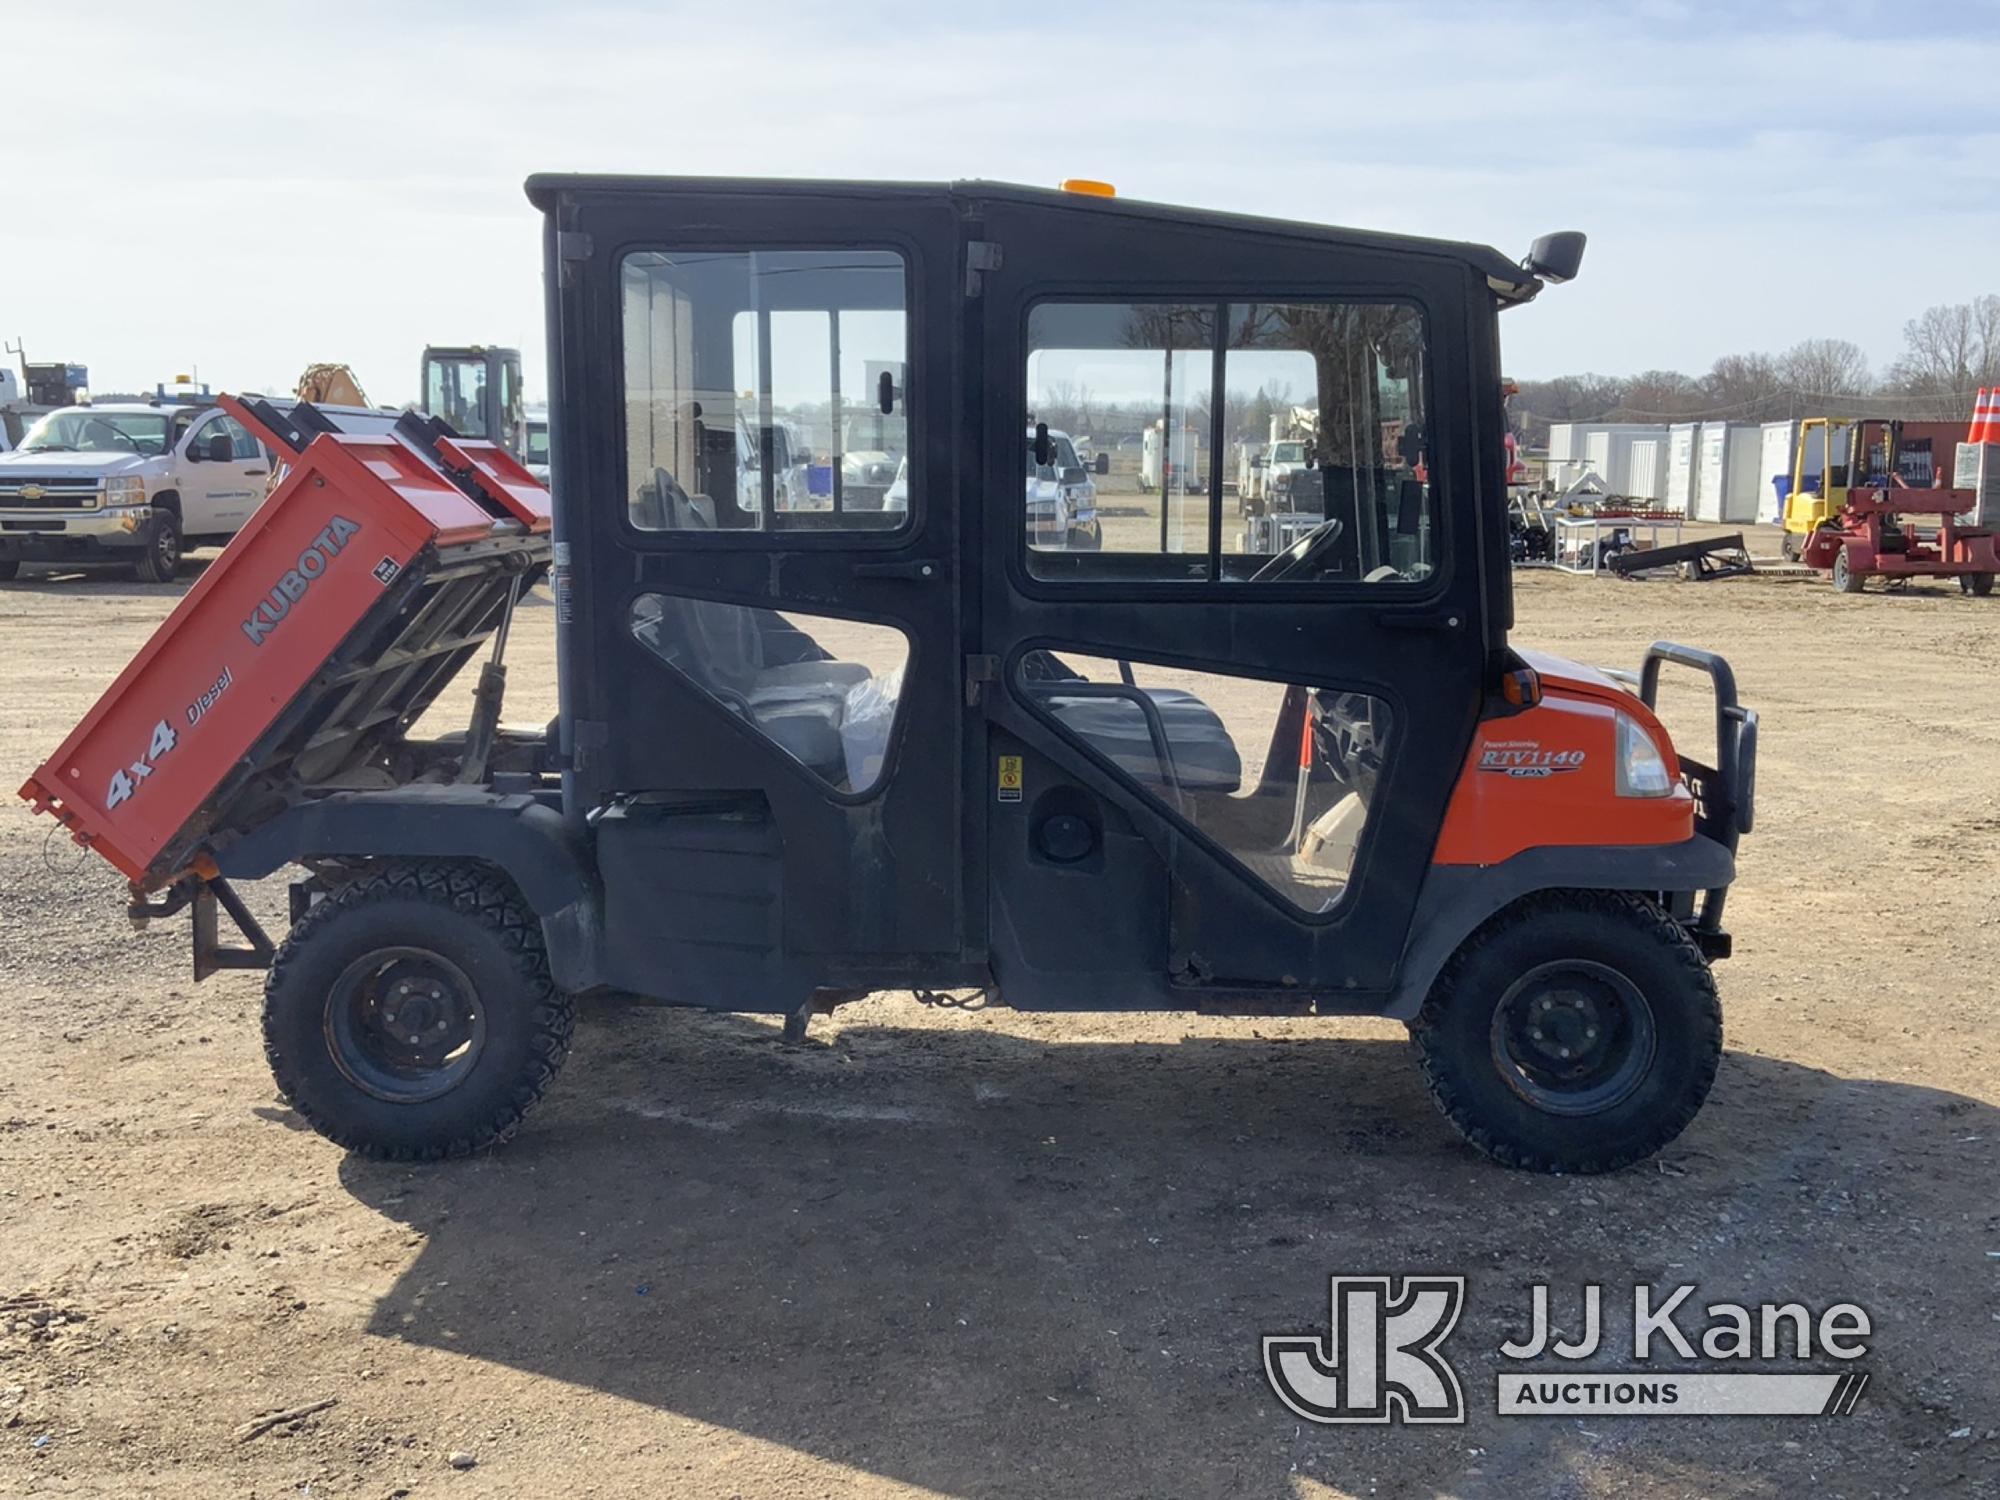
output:
[[[270, 966], [318, 1130], [504, 1140], [600, 990], [790, 1034], [874, 990], [1392, 1016], [1452, 1124], [1536, 1170], [1696, 1114], [1756, 714], [1712, 652], [1508, 644], [1496, 316], [1580, 234], [1514, 262], [984, 182], [528, 192], [554, 550], [488, 444], [240, 402], [286, 484], [24, 788], [134, 914], [194, 910], [198, 972]], [[1030, 526], [1052, 392], [1222, 452], [1210, 376], [1314, 388], [1300, 532], [1226, 526], [1222, 466], [1094, 548]], [[884, 464], [906, 504], [850, 504]], [[468, 732], [414, 736], [544, 564], [556, 720], [500, 730], [488, 662]], [[1654, 712], [1670, 666], [1712, 686], [1714, 764]], [[230, 882], [286, 866], [272, 952]]]

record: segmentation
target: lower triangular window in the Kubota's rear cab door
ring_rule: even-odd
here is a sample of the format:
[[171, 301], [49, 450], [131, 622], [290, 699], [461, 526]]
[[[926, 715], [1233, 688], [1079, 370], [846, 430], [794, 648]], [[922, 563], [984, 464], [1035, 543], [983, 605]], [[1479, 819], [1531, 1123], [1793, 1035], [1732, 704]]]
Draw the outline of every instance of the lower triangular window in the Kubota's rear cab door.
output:
[[632, 634], [836, 792], [882, 780], [910, 640], [894, 626], [640, 594]]

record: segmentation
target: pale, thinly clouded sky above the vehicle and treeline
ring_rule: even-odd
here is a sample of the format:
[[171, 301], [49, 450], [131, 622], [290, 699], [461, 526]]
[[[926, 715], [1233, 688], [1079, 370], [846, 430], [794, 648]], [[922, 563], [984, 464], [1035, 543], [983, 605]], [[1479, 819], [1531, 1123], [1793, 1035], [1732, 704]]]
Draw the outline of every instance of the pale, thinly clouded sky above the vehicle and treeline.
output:
[[2000, 292], [2000, 0], [196, 8], [0, 0], [0, 334], [98, 390], [198, 368], [544, 390], [530, 172], [1104, 178], [1526, 252], [1516, 378], [1840, 336]]

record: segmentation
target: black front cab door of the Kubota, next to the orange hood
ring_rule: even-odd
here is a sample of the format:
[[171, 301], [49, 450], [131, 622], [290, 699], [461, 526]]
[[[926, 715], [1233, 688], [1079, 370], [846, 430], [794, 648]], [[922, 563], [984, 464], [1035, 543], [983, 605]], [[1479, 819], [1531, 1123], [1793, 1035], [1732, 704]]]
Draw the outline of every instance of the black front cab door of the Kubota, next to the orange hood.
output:
[[[1098, 200], [972, 222], [1002, 990], [1372, 1008], [1502, 638], [1484, 288], [1446, 254]], [[1094, 546], [1026, 524], [1056, 428], [1110, 454]], [[1246, 504], [1274, 440], [1312, 462]]]

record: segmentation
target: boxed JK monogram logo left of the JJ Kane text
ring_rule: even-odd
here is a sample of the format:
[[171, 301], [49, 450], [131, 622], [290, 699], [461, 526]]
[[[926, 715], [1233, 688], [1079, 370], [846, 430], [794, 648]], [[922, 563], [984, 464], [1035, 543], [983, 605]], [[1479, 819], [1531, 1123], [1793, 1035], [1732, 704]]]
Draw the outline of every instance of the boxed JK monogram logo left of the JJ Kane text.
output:
[[1266, 1334], [1264, 1378], [1308, 1422], [1464, 1422], [1458, 1372], [1438, 1354], [1466, 1304], [1464, 1276], [1334, 1276], [1328, 1338]]

